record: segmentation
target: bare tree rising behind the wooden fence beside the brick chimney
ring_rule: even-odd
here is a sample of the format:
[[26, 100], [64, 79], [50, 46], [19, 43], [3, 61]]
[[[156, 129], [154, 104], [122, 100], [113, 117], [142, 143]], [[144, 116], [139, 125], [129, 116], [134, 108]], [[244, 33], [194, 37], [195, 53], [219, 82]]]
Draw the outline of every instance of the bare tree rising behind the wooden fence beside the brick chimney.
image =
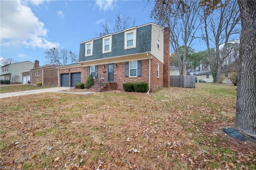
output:
[[[185, 3], [183, 0], [156, 0], [151, 12], [151, 18], [170, 29], [170, 43], [178, 58], [180, 75], [186, 75], [186, 55], [196, 39], [196, 31], [200, 26], [198, 8], [199, 4], [196, 1]], [[179, 50], [181, 46], [184, 47], [183, 55]]]

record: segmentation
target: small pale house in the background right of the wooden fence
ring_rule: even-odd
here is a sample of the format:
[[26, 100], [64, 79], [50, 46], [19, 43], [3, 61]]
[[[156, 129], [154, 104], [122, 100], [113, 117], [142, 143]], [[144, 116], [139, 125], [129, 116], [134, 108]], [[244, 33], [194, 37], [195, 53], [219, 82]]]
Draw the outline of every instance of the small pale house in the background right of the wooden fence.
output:
[[212, 71], [190, 71], [189, 75], [196, 76], [195, 82], [196, 83], [212, 83], [213, 77], [212, 77]]

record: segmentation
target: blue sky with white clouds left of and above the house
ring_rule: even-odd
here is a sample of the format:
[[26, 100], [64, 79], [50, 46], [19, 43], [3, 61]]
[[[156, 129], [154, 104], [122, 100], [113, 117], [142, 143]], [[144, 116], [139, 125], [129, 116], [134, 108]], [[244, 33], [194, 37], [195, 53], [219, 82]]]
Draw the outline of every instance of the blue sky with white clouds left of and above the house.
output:
[[78, 55], [80, 42], [96, 38], [100, 23], [111, 18], [114, 24], [118, 13], [136, 18], [136, 26], [154, 22], [154, 1], [146, 4], [147, 0], [1, 0], [0, 60], [39, 60], [44, 65], [44, 51], [52, 47]]

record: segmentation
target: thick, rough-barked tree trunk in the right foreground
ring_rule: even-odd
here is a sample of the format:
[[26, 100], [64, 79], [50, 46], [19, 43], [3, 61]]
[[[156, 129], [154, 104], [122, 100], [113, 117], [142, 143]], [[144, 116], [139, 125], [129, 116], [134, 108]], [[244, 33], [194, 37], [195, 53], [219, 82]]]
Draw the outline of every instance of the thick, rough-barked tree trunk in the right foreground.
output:
[[256, 137], [256, 1], [238, 0], [242, 32], [235, 127]]

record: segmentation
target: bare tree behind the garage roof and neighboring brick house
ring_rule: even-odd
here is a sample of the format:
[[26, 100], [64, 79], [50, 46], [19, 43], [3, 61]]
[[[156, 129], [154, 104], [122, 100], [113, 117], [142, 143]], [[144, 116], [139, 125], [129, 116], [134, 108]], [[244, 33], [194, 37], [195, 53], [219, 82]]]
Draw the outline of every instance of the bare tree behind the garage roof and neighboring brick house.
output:
[[44, 52], [48, 64], [66, 65], [68, 63], [75, 63], [78, 61], [77, 55], [71, 50], [68, 52], [67, 49], [51, 48]]

